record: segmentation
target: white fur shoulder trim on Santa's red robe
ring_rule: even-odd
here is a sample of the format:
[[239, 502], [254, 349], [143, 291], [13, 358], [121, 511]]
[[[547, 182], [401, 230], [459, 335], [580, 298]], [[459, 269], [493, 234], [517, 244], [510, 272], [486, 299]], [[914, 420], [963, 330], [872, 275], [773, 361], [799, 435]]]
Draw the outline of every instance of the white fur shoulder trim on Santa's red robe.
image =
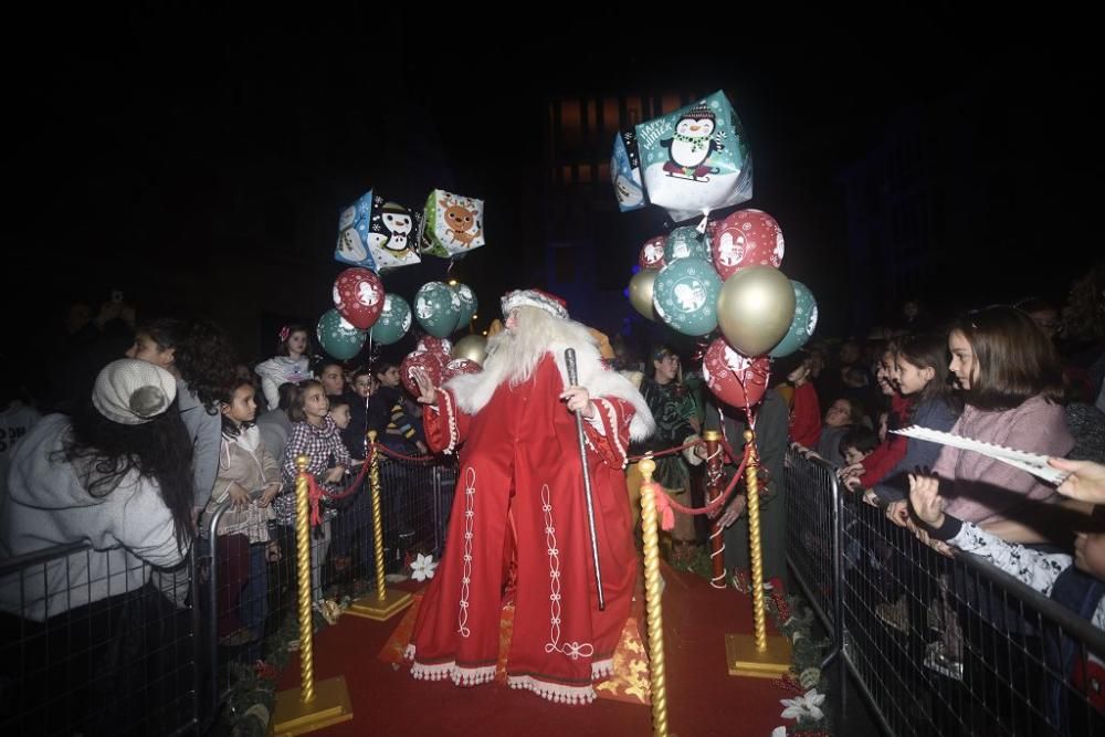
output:
[[[564, 351], [576, 349], [576, 365], [579, 368], [579, 385], [591, 394], [599, 397], [617, 397], [633, 406], [633, 419], [629, 425], [630, 440], [644, 440], [656, 431], [652, 412], [641, 392], [630, 383], [629, 379], [607, 369], [599, 356], [594, 337], [586, 326], [573, 320], [555, 320], [556, 335], [548, 345], [564, 386], [568, 386], [568, 369], [564, 362]], [[456, 406], [469, 414], [475, 414], [491, 401], [495, 390], [506, 381], [511, 367], [503, 361], [488, 357], [484, 370], [480, 373], [465, 373], [445, 382], [445, 388], [452, 390]]]

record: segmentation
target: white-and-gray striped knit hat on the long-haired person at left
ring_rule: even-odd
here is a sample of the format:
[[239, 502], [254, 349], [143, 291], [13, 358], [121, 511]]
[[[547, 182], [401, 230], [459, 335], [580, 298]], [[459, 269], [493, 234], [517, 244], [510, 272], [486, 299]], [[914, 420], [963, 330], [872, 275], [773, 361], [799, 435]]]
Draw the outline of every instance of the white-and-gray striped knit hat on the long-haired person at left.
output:
[[177, 380], [160, 366], [136, 358], [112, 361], [96, 377], [92, 403], [119, 424], [141, 424], [168, 409]]

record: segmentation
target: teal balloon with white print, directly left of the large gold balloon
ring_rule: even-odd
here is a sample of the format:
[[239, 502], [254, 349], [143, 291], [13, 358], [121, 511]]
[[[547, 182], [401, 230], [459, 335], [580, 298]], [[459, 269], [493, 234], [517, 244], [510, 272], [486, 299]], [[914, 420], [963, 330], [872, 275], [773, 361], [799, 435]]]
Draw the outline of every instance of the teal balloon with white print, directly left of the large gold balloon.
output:
[[656, 274], [652, 306], [665, 325], [684, 335], [706, 335], [717, 327], [722, 280], [705, 259], [680, 259]]

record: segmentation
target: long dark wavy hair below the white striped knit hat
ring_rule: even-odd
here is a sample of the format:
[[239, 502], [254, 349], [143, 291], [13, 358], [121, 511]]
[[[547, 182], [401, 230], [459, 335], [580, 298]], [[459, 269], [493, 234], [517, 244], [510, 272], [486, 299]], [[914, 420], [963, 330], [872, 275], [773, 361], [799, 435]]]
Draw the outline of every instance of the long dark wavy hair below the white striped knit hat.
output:
[[183, 551], [192, 537], [192, 441], [175, 408], [141, 424], [120, 424], [101, 414], [92, 401], [72, 417], [73, 432], [60, 453], [94, 471], [86, 481], [91, 496], [110, 494], [131, 471], [158, 484], [161, 501], [172, 515], [177, 547]]

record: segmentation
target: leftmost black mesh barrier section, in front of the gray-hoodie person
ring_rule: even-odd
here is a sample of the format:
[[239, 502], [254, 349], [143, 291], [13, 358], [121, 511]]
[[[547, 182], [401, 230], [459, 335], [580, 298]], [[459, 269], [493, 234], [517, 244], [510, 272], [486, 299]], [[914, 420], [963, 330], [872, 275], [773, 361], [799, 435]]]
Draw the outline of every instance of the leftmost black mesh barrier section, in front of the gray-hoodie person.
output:
[[[106, 573], [90, 577], [93, 558]], [[173, 572], [57, 546], [0, 562], [0, 734], [199, 729], [192, 557]]]

